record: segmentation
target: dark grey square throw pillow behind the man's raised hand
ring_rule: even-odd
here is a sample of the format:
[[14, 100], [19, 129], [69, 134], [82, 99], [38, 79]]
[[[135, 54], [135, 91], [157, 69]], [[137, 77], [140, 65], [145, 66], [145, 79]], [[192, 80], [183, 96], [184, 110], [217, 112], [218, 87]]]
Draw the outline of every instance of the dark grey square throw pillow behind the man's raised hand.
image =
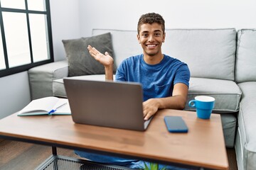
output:
[[88, 45], [92, 45], [92, 47], [97, 48], [102, 53], [109, 52], [114, 57], [110, 33], [92, 36], [90, 38], [63, 40], [63, 45], [68, 57], [69, 77], [105, 73], [103, 65], [90, 56], [87, 50]]

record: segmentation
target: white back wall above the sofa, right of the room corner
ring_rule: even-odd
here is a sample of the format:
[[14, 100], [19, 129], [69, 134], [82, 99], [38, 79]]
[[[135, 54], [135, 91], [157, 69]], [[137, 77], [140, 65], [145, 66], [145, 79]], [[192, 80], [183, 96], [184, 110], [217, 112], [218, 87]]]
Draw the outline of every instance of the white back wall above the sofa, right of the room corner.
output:
[[255, 0], [80, 0], [81, 36], [92, 28], [136, 30], [143, 13], [160, 13], [166, 28], [256, 28]]

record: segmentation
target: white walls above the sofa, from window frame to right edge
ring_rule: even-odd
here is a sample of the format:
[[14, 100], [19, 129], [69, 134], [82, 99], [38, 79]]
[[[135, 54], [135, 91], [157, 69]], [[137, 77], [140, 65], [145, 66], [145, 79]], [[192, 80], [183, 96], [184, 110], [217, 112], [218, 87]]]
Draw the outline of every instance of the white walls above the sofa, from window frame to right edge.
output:
[[[255, 0], [51, 0], [55, 61], [61, 40], [92, 35], [92, 28], [137, 30], [144, 13], [160, 13], [166, 28], [256, 28]], [[53, 8], [53, 6], [56, 6]], [[58, 8], [57, 8], [58, 6]]]

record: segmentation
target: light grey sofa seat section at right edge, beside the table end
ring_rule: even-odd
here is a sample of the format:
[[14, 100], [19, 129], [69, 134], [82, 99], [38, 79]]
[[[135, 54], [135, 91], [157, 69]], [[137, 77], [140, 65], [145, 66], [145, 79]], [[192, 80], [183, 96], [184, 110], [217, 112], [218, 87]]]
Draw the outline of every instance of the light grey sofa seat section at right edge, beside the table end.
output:
[[256, 169], [256, 82], [243, 82], [238, 86], [242, 90], [238, 114], [238, 133], [235, 142], [238, 167], [240, 169]]

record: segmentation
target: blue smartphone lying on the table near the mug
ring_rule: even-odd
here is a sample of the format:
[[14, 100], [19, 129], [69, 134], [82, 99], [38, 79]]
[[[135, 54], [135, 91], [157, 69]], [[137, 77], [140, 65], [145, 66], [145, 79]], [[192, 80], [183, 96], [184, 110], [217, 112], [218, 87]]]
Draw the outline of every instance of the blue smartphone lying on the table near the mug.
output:
[[169, 132], [188, 132], [188, 127], [181, 116], [166, 115], [164, 122]]

